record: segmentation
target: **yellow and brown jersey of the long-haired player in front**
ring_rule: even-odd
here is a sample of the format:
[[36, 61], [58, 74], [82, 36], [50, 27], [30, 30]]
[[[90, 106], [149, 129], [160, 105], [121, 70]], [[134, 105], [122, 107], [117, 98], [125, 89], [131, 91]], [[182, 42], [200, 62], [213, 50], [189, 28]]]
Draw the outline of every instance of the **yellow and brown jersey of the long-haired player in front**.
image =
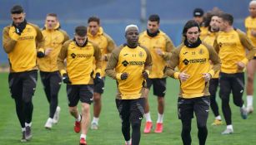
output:
[[[179, 97], [191, 99], [210, 95], [208, 92], [208, 82], [203, 79], [203, 73], [209, 73], [212, 76], [220, 68], [220, 59], [212, 46], [205, 43], [200, 44], [195, 48], [188, 48], [181, 44], [173, 51], [171, 60], [168, 63], [166, 75], [178, 79], [180, 72], [189, 75], [188, 80], [180, 82]], [[213, 62], [213, 67], [209, 63]], [[175, 67], [178, 71], [175, 71]]]

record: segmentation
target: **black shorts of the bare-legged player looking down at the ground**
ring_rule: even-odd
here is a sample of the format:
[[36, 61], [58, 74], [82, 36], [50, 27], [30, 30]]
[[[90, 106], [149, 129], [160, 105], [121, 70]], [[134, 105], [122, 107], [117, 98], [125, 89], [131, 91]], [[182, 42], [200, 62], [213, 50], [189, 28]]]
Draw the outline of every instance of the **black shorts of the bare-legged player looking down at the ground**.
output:
[[78, 105], [78, 101], [91, 104], [93, 102], [93, 85], [67, 85], [68, 106]]

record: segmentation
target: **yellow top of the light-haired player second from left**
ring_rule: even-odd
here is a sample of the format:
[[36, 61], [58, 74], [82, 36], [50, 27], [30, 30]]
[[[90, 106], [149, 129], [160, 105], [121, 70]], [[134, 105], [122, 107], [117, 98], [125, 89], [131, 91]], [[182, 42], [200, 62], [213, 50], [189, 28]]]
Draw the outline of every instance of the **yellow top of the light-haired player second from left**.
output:
[[48, 56], [38, 58], [38, 67], [39, 70], [44, 72], [53, 72], [58, 70], [57, 57], [60, 49], [63, 46], [65, 41], [69, 40], [68, 34], [66, 31], [63, 31], [59, 28], [59, 23], [54, 30], [49, 30], [45, 26], [42, 30], [43, 37], [45, 40], [43, 49], [38, 51], [44, 51], [48, 48], [52, 49], [51, 53]]

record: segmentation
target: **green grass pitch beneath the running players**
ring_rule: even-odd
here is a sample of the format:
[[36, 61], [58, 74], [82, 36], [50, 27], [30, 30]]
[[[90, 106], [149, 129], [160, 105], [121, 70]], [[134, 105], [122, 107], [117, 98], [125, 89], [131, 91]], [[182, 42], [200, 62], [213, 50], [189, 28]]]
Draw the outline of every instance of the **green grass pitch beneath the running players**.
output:
[[[43, 92], [41, 80], [38, 79], [36, 94], [33, 97], [33, 139], [28, 143], [20, 143], [21, 128], [15, 112], [15, 105], [11, 99], [8, 89], [8, 74], [0, 74], [0, 145], [9, 144], [51, 144], [51, 145], [77, 145], [80, 134], [73, 132], [74, 119], [68, 114], [68, 104], [66, 99], [65, 85], [59, 93], [59, 106], [61, 107], [60, 121], [53, 126], [52, 130], [45, 129], [44, 123], [48, 118], [48, 102]], [[115, 83], [111, 79], [106, 80], [105, 93], [103, 94], [103, 110], [100, 116], [99, 130], [88, 131], [88, 144], [92, 145], [120, 145], [124, 144], [121, 132], [121, 121], [118, 111], [114, 104], [115, 99]], [[256, 90], [256, 89], [255, 89]], [[168, 91], [166, 94], [166, 108], [164, 114], [164, 130], [163, 133], [142, 133], [141, 145], [180, 145], [182, 144], [180, 133], [181, 123], [177, 115], [177, 96], [178, 81], [168, 79]], [[153, 121], [157, 119], [156, 98], [152, 92], [150, 94], [150, 106]], [[245, 97], [244, 97], [245, 99]], [[218, 99], [218, 103], [219, 103]], [[254, 104], [255, 104], [254, 99]], [[250, 115], [248, 119], [243, 120], [240, 117], [238, 107], [233, 105], [232, 99], [230, 104], [233, 112], [233, 128], [232, 135], [221, 135], [220, 133], [226, 128], [225, 125], [213, 127], [212, 112], [208, 118], [208, 139], [207, 145], [254, 145], [256, 144], [256, 117], [255, 114]], [[144, 125], [144, 120], [143, 120]], [[143, 126], [142, 126], [143, 130]], [[197, 128], [195, 119], [193, 119], [192, 127], [193, 145], [198, 144]]]

